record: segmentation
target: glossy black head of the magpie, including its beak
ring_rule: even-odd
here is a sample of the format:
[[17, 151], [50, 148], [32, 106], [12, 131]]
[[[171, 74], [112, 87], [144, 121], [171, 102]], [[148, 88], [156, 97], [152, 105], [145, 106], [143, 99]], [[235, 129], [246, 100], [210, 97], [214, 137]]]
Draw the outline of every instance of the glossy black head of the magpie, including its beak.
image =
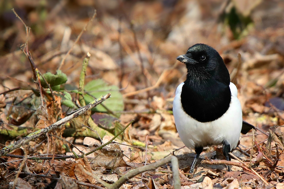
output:
[[230, 75], [220, 54], [212, 47], [197, 43], [176, 58], [187, 68], [187, 80], [214, 79], [230, 84]]

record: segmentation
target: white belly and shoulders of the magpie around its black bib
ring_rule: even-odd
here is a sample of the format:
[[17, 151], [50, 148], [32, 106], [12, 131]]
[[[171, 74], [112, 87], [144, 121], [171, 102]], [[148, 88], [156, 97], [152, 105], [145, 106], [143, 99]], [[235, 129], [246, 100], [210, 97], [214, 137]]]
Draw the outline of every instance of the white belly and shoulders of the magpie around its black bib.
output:
[[218, 145], [222, 144], [225, 139], [229, 142], [231, 150], [235, 149], [243, 123], [241, 103], [237, 98], [237, 87], [230, 83], [231, 102], [227, 112], [214, 121], [202, 123], [183, 111], [180, 97], [183, 84], [179, 84], [176, 90], [173, 114], [179, 137], [185, 146], [195, 148], [195, 146]]

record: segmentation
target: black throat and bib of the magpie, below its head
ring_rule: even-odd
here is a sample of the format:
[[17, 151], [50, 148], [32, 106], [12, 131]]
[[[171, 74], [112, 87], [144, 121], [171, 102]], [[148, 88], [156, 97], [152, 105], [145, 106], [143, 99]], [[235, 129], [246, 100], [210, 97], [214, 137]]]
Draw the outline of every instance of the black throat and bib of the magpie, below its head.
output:
[[[202, 72], [202, 69], [188, 70], [187, 79], [181, 90], [181, 104], [185, 113], [197, 121], [214, 121], [229, 109], [230, 81], [214, 78], [214, 74]], [[228, 74], [224, 76], [227, 77]]]

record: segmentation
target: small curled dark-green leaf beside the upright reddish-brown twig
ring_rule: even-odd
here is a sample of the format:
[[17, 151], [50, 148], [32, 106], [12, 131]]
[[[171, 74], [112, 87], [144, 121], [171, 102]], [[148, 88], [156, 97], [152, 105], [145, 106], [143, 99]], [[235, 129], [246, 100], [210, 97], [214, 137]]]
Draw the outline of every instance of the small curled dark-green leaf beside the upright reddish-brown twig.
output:
[[[52, 74], [51, 72], [47, 72], [47, 73], [43, 74], [43, 77], [45, 78], [47, 83], [49, 83], [49, 85], [51, 87], [59, 85], [59, 89], [60, 89], [60, 85], [63, 84], [63, 83], [66, 83], [66, 81], [67, 81], [67, 75], [62, 73], [61, 70], [57, 70], [56, 74]], [[41, 83], [41, 86], [43, 88], [48, 87], [41, 76], [40, 76], [40, 83]], [[55, 89], [58, 89], [58, 87], [55, 87]]]

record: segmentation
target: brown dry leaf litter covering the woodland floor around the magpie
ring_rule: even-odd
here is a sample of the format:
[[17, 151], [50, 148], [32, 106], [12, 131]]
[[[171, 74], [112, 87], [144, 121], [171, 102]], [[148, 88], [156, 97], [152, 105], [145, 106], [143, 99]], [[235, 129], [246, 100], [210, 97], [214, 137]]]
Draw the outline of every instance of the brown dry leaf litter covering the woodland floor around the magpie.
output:
[[[87, 52], [91, 58], [85, 72], [85, 103], [112, 95], [91, 112], [2, 156], [0, 187], [111, 188], [123, 175], [174, 151], [183, 189], [284, 188], [283, 2], [110, 2], [0, 3], [1, 148], [82, 106], [78, 86]], [[98, 17], [75, 43], [88, 14], [93, 14], [92, 6]], [[31, 27], [26, 50], [43, 73], [43, 104], [29, 60], [17, 48], [27, 36], [11, 7]], [[258, 128], [241, 136], [230, 172], [223, 164], [202, 163], [224, 159], [222, 148], [213, 146], [204, 148], [197, 170], [189, 174], [193, 150], [182, 148], [176, 132], [172, 100], [185, 69], [175, 58], [194, 43], [207, 43], [220, 52], [239, 89], [243, 117]], [[100, 148], [132, 119], [122, 134]], [[134, 175], [121, 188], [173, 188], [171, 166]]]

